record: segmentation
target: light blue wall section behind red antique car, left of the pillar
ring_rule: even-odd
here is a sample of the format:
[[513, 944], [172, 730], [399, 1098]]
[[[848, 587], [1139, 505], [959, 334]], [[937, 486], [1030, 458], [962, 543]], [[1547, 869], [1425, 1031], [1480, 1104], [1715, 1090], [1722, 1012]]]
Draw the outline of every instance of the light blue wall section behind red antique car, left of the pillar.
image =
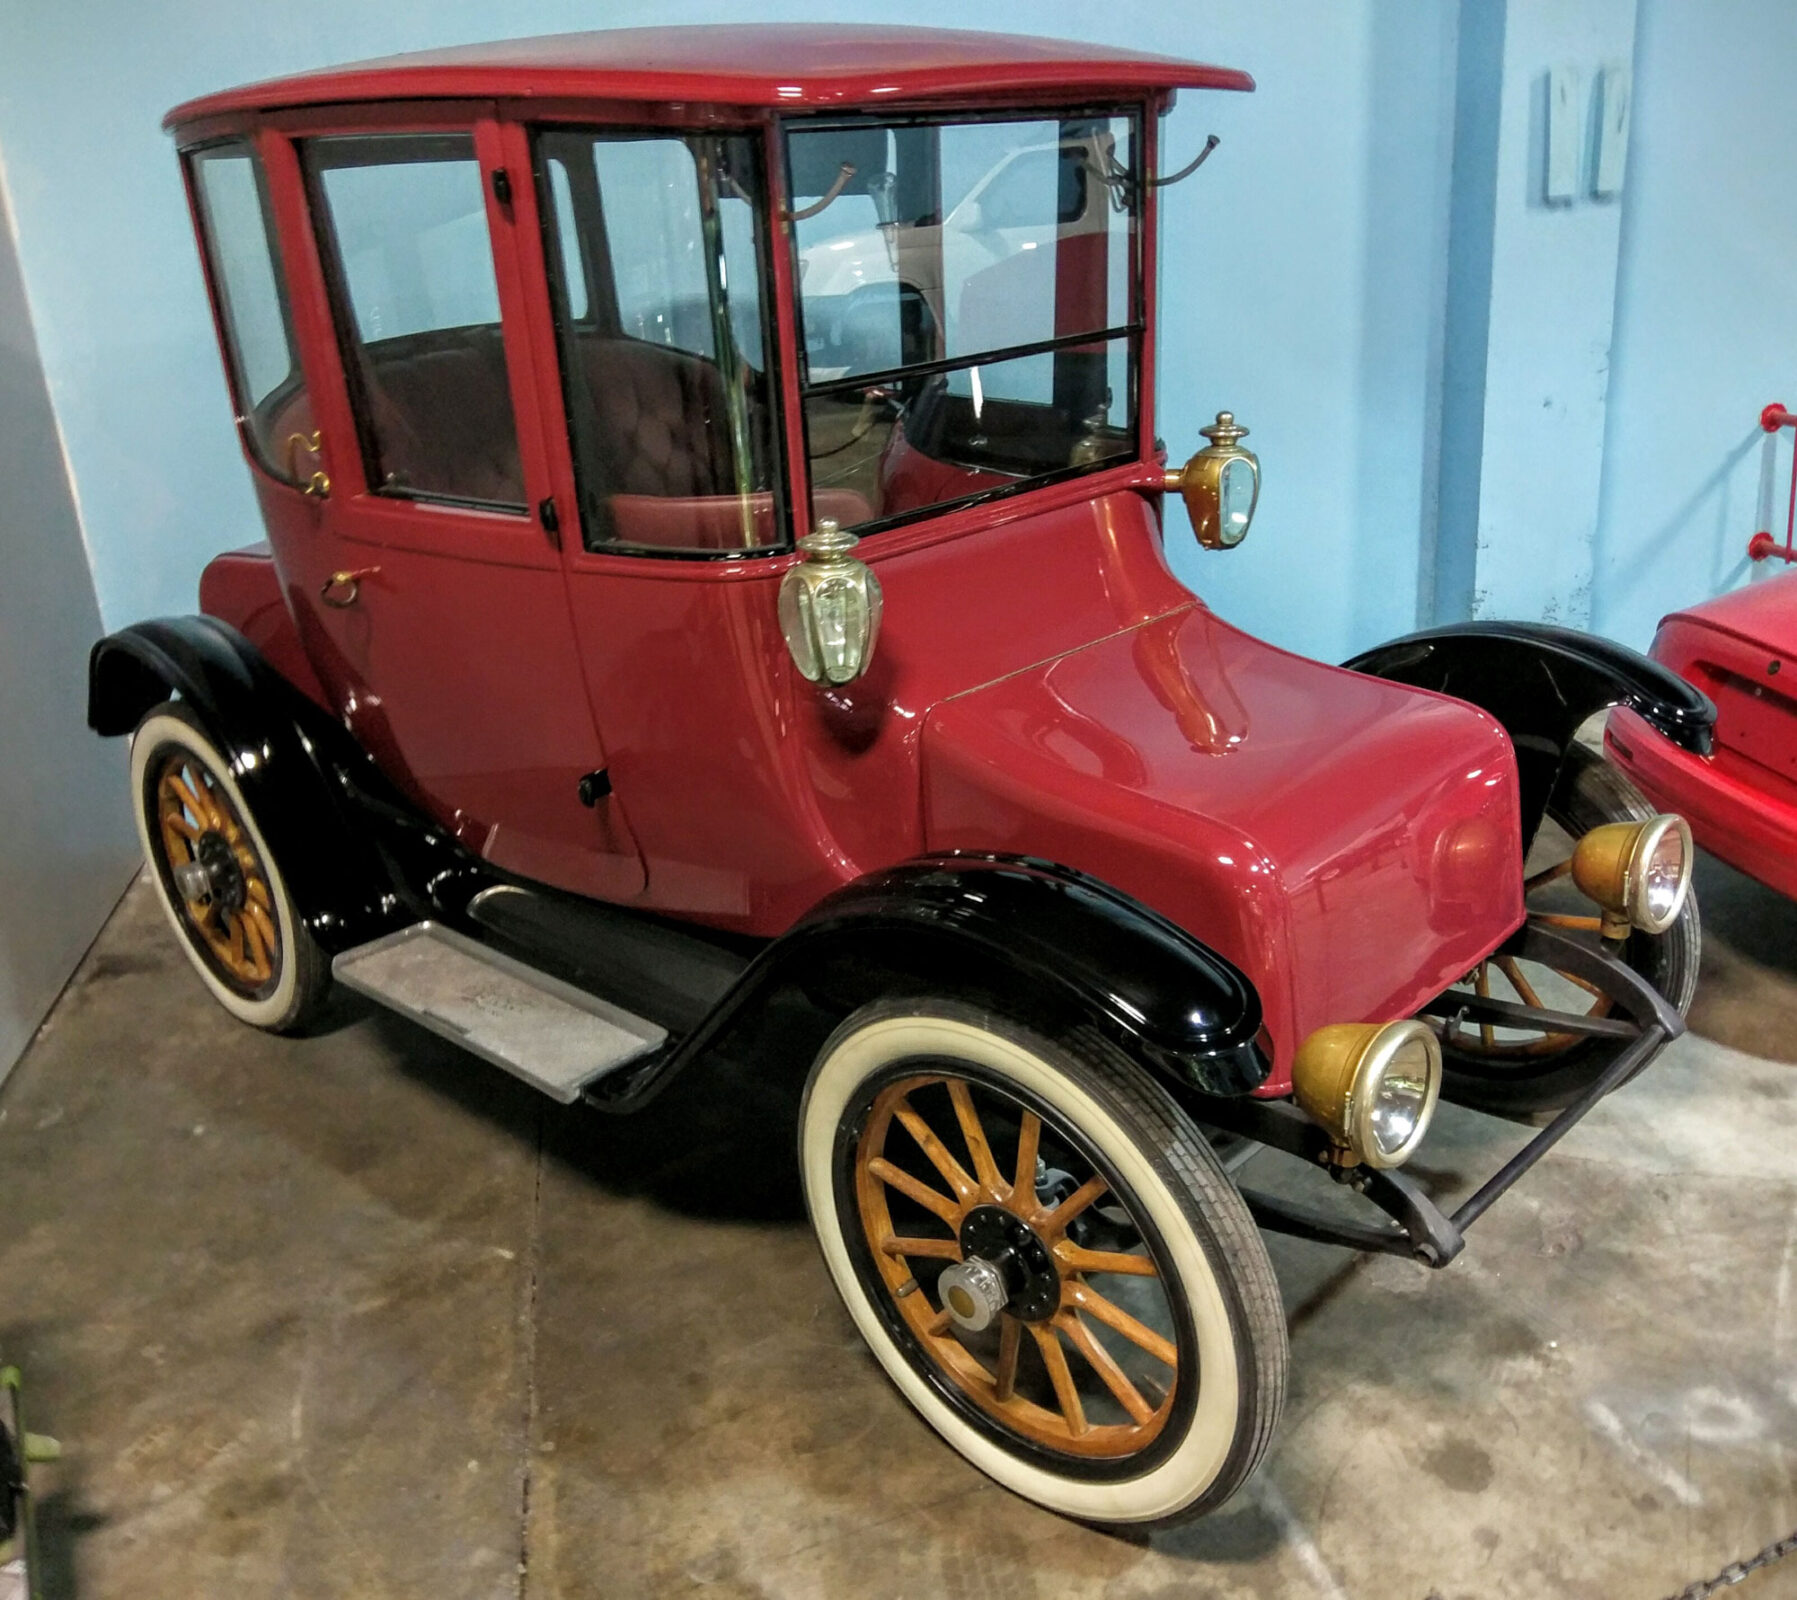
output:
[[[1186, 95], [1170, 158], [1163, 433], [1254, 430], [1253, 539], [1173, 548], [1224, 615], [1323, 656], [1416, 618], [1432, 541], [1432, 370], [1447, 262], [1456, 9], [1441, 0], [1168, 7], [1071, 0], [904, 20], [1089, 38], [1245, 67], [1256, 95]], [[174, 102], [359, 56], [561, 29], [893, 20], [873, 0], [0, 0], [0, 153], [108, 626], [190, 609], [205, 559], [257, 538], [173, 149]]]

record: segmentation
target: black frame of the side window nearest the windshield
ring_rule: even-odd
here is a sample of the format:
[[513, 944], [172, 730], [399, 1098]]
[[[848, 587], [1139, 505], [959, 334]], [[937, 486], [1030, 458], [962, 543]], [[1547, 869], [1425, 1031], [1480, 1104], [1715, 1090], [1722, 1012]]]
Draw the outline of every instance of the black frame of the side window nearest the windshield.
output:
[[[787, 451], [787, 428], [785, 428], [785, 408], [787, 408], [787, 383], [783, 370], [783, 352], [780, 343], [780, 307], [776, 298], [776, 275], [775, 275], [775, 230], [769, 227], [775, 207], [775, 189], [773, 189], [773, 169], [767, 149], [767, 138], [762, 124], [730, 124], [730, 122], [636, 122], [636, 120], [586, 120], [579, 115], [571, 117], [548, 117], [537, 119], [523, 124], [523, 131], [530, 147], [530, 180], [536, 191], [537, 203], [537, 232], [541, 244], [543, 261], [543, 288], [548, 300], [550, 313], [550, 340], [555, 351], [555, 374], [557, 374], [557, 394], [561, 397], [561, 422], [562, 433], [568, 444], [568, 464], [573, 475], [573, 514], [579, 520], [579, 550], [582, 556], [625, 556], [633, 559], [652, 559], [652, 561], [755, 561], [769, 556], [787, 556], [794, 547], [792, 532], [792, 494], [791, 494], [791, 458]], [[767, 491], [773, 496], [773, 529], [775, 538], [766, 545], [749, 545], [735, 550], [708, 550], [708, 548], [690, 548], [683, 550], [672, 545], [625, 545], [615, 539], [595, 539], [593, 529], [588, 527], [586, 516], [586, 475], [589, 467], [584, 462], [584, 449], [580, 448], [580, 430], [575, 426], [573, 415], [573, 378], [568, 367], [568, 324], [580, 327], [597, 325], [606, 315], [616, 309], [616, 284], [613, 277], [613, 264], [607, 261], [604, 271], [589, 257], [586, 250], [586, 239], [582, 236], [575, 237], [575, 253], [580, 262], [580, 273], [586, 282], [586, 316], [573, 318], [568, 316], [568, 298], [566, 284], [562, 275], [566, 271], [566, 252], [562, 248], [562, 239], [559, 236], [559, 218], [555, 214], [555, 196], [550, 187], [548, 162], [550, 156], [544, 155], [543, 137], [544, 135], [577, 135], [588, 138], [593, 144], [602, 140], [611, 142], [642, 142], [651, 138], [677, 140], [688, 144], [694, 138], [742, 138], [751, 151], [751, 160], [755, 164], [757, 189], [758, 194], [749, 205], [749, 212], [755, 221], [755, 270], [758, 277], [757, 309], [760, 316], [760, 334], [762, 334], [762, 358], [767, 363], [764, 370], [764, 379], [767, 385], [767, 406], [769, 406], [769, 428], [767, 428], [767, 446], [769, 446], [769, 471], [767, 471]], [[570, 174], [571, 187], [573, 174]], [[571, 196], [571, 209], [575, 212], [575, 223], [580, 223], [580, 205], [582, 200], [575, 192]], [[609, 241], [607, 241], [609, 243]], [[606, 306], [606, 297], [611, 297], [611, 311], [602, 309]], [[625, 334], [629, 336], [629, 334]], [[645, 343], [649, 343], [645, 340]], [[762, 493], [762, 491], [757, 491]]]

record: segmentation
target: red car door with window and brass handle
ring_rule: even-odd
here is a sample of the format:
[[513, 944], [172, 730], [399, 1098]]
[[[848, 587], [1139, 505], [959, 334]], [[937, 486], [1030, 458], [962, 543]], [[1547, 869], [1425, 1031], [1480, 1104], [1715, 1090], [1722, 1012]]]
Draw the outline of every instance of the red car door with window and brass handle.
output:
[[643, 867], [575, 647], [492, 108], [289, 133], [329, 489], [288, 564], [320, 676], [469, 849], [627, 899]]

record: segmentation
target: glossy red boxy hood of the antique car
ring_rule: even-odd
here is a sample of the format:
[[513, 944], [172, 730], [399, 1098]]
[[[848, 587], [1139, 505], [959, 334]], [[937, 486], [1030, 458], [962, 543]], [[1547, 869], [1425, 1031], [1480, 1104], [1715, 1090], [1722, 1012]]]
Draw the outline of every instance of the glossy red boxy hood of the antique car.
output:
[[1522, 920], [1492, 717], [1202, 606], [934, 707], [924, 807], [933, 850], [1076, 867], [1236, 962], [1267, 1009], [1269, 1089], [1312, 1028], [1409, 1016]]

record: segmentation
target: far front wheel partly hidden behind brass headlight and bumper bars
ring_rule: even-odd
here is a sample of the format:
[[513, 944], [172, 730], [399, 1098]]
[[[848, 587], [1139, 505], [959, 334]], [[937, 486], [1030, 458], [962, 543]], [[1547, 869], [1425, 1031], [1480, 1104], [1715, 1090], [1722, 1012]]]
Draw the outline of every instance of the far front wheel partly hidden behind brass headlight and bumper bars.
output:
[[[1572, 886], [1572, 847], [1607, 822], [1653, 816], [1655, 807], [1601, 755], [1574, 746], [1529, 852], [1529, 913], [1560, 928], [1596, 933], [1596, 908]], [[1623, 958], [1680, 1012], [1696, 992], [1702, 929], [1696, 895], [1666, 933], [1632, 933]], [[1540, 1010], [1603, 1018], [1612, 1001], [1598, 985], [1540, 962], [1492, 956], [1456, 985], [1492, 1000]], [[1443, 1095], [1486, 1111], [1553, 1111], [1576, 1098], [1624, 1048], [1626, 1041], [1567, 1034], [1549, 1027], [1509, 1027], [1479, 1019], [1448, 1023], [1441, 1039]]]

